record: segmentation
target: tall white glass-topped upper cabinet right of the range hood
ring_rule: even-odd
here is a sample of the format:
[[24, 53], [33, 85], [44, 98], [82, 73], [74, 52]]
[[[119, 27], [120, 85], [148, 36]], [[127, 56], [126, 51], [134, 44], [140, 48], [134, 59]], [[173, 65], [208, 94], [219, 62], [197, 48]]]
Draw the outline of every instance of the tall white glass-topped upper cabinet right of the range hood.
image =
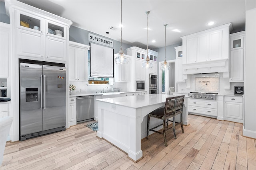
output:
[[244, 81], [245, 31], [230, 34], [230, 82]]

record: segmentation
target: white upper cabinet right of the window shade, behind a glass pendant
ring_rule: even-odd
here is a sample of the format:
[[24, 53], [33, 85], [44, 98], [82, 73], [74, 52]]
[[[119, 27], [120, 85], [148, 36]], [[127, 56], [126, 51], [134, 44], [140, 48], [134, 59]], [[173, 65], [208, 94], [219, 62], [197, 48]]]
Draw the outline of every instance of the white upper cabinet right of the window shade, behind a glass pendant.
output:
[[[114, 55], [118, 57], [118, 54]], [[127, 64], [114, 64], [114, 78], [115, 82], [130, 82], [131, 81], [131, 64], [132, 56], [125, 55], [128, 58]]]

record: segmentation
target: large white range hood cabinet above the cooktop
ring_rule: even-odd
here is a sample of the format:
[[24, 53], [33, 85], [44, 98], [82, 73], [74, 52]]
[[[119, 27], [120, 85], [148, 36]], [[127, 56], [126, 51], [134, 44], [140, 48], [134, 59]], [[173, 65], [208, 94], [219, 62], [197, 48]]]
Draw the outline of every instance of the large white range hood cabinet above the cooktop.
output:
[[231, 23], [182, 37], [183, 73], [228, 72]]

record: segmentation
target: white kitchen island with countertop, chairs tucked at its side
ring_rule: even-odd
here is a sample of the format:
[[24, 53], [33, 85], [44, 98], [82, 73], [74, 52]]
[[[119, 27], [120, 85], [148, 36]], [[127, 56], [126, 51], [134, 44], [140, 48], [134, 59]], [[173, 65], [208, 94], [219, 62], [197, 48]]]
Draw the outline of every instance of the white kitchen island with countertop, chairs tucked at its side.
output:
[[[151, 111], [164, 107], [166, 98], [178, 95], [145, 94], [97, 100], [98, 133], [124, 152], [135, 162], [142, 158], [140, 141], [146, 137], [146, 115]], [[183, 122], [187, 125], [187, 111], [184, 106]], [[151, 119], [150, 126], [161, 123]], [[162, 129], [162, 127], [159, 127]]]

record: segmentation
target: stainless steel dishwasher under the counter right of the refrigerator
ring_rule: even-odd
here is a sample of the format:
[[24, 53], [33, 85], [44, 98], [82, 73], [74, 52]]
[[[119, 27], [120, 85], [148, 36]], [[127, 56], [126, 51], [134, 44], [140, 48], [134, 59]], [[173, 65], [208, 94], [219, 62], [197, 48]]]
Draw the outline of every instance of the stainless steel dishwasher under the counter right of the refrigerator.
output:
[[76, 123], [94, 119], [94, 96], [76, 97]]

